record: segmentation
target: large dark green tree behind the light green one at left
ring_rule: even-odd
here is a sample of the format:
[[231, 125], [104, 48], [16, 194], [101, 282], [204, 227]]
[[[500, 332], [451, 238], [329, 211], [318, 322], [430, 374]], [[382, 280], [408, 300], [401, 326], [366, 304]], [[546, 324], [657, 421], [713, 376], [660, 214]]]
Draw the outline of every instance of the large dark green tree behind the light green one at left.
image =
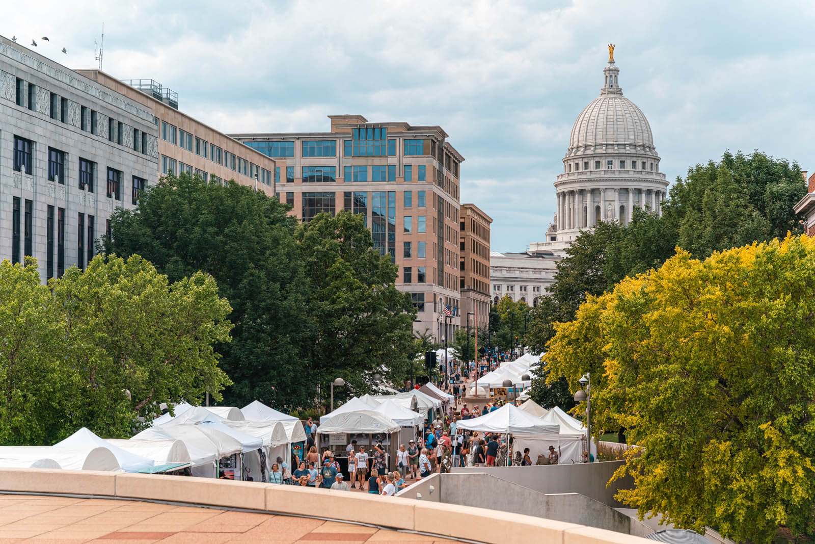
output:
[[[108, 254], [140, 254], [170, 281], [198, 271], [214, 276], [229, 300], [232, 342], [218, 345], [233, 385], [228, 404], [261, 400], [280, 409], [310, 406], [319, 382], [310, 376], [303, 346], [317, 331], [307, 317], [309, 285], [294, 241], [289, 206], [241, 186], [207, 184], [197, 176], [168, 175], [118, 210]], [[178, 400], [178, 399], [175, 399]]]

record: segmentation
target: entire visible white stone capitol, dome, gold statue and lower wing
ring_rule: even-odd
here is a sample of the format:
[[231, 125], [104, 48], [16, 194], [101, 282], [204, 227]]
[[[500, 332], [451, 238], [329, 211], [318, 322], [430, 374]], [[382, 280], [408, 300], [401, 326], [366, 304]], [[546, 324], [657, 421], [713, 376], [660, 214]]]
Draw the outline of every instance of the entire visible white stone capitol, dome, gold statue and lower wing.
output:
[[614, 45], [603, 69], [600, 96], [577, 116], [571, 128], [563, 171], [557, 176], [557, 211], [544, 241], [526, 253], [490, 254], [491, 299], [509, 295], [537, 306], [554, 282], [555, 264], [580, 231], [600, 221], [631, 221], [636, 207], [662, 215], [667, 179], [648, 119], [623, 96]]

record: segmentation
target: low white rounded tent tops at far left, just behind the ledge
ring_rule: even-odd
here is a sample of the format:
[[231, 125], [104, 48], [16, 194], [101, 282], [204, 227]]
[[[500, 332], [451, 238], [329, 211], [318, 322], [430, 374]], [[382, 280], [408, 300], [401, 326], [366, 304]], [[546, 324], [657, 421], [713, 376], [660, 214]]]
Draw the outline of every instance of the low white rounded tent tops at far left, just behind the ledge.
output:
[[119, 471], [110, 449], [102, 447], [0, 446], [2, 468], [61, 468], [66, 471]]

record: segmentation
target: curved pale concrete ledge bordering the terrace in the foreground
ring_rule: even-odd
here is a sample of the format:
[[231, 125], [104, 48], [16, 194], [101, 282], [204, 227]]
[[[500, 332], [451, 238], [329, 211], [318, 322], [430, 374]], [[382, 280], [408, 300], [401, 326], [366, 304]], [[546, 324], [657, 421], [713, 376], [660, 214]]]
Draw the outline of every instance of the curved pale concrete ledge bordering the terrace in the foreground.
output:
[[301, 515], [474, 542], [507, 542], [522, 534], [531, 542], [648, 544], [649, 540], [531, 515], [379, 497], [368, 493], [306, 489], [293, 485], [209, 480], [183, 476], [95, 471], [0, 469], [0, 492], [88, 495], [99, 498], [181, 502]]

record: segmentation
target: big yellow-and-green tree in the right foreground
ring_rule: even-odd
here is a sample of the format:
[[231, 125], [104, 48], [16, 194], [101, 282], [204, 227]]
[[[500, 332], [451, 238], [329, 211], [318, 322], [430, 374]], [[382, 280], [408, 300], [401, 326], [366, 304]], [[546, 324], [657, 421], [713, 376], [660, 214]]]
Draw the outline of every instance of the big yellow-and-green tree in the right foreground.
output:
[[815, 530], [815, 239], [680, 250], [556, 325], [548, 367], [592, 373], [597, 429], [641, 446], [640, 515], [740, 542]]

